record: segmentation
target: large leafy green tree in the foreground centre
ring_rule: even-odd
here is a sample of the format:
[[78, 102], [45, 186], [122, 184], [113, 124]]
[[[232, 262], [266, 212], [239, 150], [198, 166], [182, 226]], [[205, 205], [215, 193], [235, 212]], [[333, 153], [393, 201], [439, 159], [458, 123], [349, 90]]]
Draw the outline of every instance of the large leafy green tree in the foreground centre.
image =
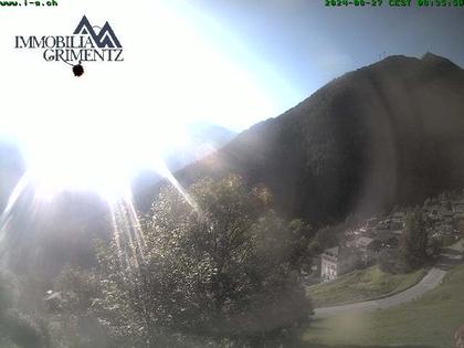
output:
[[238, 177], [202, 180], [189, 192], [194, 208], [172, 187], [161, 191], [143, 224], [137, 267], [117, 241], [99, 247], [97, 310], [119, 346], [192, 347], [196, 337], [270, 346], [307, 319], [292, 233], [268, 193]]

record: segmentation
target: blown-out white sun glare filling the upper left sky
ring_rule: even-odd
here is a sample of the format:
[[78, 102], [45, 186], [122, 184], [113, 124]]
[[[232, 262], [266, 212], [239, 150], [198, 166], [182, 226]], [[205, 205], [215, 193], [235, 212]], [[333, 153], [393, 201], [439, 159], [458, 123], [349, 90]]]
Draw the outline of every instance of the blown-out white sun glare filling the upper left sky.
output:
[[[186, 140], [187, 125], [207, 120], [243, 129], [276, 114], [266, 86], [257, 83], [246, 64], [238, 63], [233, 52], [221, 51], [221, 45], [234, 44], [220, 27], [211, 23], [214, 38], [208, 39], [196, 30], [196, 23], [208, 19], [188, 4], [176, 9], [151, 1], [143, 4], [147, 9], [137, 10], [130, 21], [126, 6], [120, 18], [108, 19], [125, 61], [89, 63], [83, 77], [73, 77], [66, 64], [44, 62], [32, 51], [10, 50], [2, 56], [0, 75], [11, 83], [0, 86], [0, 131], [20, 144], [29, 178], [42, 197], [62, 190], [124, 194], [141, 169], [169, 177], [161, 158]], [[81, 15], [54, 18], [53, 28], [42, 30], [71, 31], [70, 19]], [[92, 20], [106, 20], [107, 13], [102, 15]], [[18, 22], [18, 18], [4, 20], [6, 25]], [[40, 29], [36, 21], [28, 23], [31, 27], [22, 32]], [[24, 66], [28, 72], [6, 66]], [[28, 98], [24, 86], [31, 92]]]

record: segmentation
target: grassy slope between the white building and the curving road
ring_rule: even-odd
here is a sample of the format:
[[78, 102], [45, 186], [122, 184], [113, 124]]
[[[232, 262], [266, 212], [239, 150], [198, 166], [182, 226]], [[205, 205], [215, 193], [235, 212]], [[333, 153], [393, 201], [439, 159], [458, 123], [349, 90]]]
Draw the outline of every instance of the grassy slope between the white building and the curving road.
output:
[[313, 298], [315, 307], [358, 302], [404, 291], [418, 283], [425, 273], [420, 270], [392, 275], [373, 266], [351, 272], [330, 283], [308, 286], [306, 293]]

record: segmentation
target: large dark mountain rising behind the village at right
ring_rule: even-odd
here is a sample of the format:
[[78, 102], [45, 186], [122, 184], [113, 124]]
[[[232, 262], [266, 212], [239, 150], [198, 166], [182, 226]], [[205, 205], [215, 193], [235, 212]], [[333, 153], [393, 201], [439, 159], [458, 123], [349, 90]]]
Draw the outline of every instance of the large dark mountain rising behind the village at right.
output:
[[[369, 215], [464, 187], [464, 71], [428, 53], [390, 56], [330, 82], [176, 177], [243, 176], [287, 217]], [[151, 198], [159, 186], [150, 191]]]

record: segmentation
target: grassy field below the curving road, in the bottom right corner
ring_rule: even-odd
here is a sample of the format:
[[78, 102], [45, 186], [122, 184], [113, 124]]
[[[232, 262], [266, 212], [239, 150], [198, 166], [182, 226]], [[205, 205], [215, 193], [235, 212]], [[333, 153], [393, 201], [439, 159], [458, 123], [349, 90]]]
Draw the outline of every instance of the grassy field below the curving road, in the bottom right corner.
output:
[[315, 320], [297, 347], [452, 348], [464, 324], [464, 266], [423, 297], [386, 310]]

